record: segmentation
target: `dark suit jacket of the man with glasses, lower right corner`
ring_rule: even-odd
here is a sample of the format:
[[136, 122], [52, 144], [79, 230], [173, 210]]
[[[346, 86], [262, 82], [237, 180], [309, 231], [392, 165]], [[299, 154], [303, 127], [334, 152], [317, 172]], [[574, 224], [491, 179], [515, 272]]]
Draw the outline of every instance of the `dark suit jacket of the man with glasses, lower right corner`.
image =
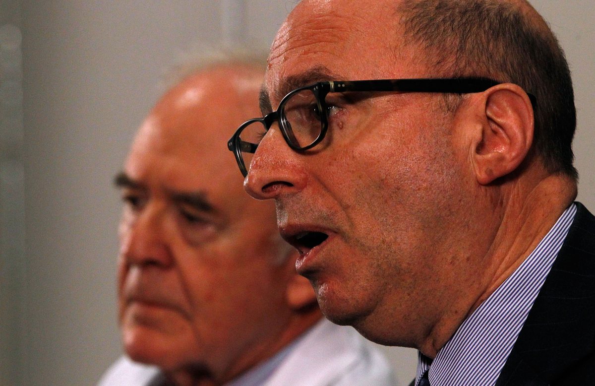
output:
[[576, 204], [496, 386], [595, 385], [595, 217]]

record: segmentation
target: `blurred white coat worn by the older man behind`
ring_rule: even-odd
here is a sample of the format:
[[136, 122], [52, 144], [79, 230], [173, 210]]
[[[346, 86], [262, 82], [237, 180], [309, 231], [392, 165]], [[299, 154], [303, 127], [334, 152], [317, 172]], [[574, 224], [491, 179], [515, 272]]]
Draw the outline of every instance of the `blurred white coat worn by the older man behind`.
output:
[[[120, 358], [98, 386], [146, 386], [158, 375], [155, 366]], [[326, 319], [297, 338], [287, 350], [244, 373], [227, 386], [395, 385], [383, 354], [353, 328]]]

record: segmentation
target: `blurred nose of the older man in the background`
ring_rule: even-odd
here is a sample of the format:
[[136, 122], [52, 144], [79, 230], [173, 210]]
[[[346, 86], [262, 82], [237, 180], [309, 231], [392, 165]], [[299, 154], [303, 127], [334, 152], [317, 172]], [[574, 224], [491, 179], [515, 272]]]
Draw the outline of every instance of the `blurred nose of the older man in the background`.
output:
[[128, 264], [158, 267], [171, 264], [164, 217], [165, 213], [151, 204], [138, 213], [124, 214], [120, 224], [120, 254]]

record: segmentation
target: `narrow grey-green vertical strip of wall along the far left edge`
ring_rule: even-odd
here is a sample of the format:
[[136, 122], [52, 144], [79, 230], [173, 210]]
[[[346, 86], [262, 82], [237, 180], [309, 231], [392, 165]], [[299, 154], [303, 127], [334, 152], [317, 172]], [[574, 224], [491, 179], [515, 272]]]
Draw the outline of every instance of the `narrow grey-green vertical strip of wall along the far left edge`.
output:
[[23, 86], [20, 9], [0, 0], [0, 384], [14, 378], [20, 348], [24, 256]]

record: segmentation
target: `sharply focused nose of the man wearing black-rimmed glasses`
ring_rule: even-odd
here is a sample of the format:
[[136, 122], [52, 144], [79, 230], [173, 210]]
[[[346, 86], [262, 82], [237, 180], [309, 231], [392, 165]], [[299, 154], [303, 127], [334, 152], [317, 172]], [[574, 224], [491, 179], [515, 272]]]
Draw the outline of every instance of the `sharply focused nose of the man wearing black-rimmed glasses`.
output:
[[277, 125], [268, 130], [250, 163], [244, 188], [257, 200], [277, 198], [305, 188], [308, 180], [303, 155], [293, 151]]

